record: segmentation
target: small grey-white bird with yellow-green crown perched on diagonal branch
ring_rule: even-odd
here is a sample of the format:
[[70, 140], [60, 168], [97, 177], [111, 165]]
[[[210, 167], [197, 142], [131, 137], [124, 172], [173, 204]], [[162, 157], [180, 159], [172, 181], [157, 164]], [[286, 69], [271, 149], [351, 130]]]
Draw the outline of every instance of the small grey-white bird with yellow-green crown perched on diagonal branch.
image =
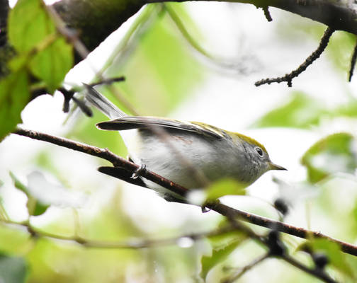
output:
[[[162, 117], [128, 116], [93, 87], [84, 84], [86, 99], [112, 120], [99, 129], [120, 131], [132, 161], [188, 189], [203, 187], [205, 180], [233, 178], [250, 185], [270, 170], [286, 170], [271, 162], [265, 147], [243, 134], [201, 122], [181, 122]], [[145, 178], [132, 179], [120, 168], [99, 171], [167, 195], [168, 191]], [[170, 194], [170, 193], [169, 193]]]

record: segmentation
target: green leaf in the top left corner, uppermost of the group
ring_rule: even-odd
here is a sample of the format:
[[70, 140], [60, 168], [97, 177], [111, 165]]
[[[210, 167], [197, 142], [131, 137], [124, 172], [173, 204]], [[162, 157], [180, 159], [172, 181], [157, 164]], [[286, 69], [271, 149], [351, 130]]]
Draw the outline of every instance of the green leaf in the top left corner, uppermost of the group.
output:
[[8, 16], [8, 39], [16, 51], [29, 52], [47, 35], [55, 33], [55, 24], [41, 0], [18, 0]]

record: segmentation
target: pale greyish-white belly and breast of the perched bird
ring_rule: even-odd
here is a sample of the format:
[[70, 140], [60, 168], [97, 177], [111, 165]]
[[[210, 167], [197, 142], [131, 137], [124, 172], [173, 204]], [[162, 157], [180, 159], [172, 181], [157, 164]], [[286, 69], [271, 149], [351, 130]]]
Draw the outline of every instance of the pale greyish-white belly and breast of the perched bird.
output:
[[[180, 131], [171, 132], [170, 144], [167, 144], [148, 131], [132, 129], [122, 131], [120, 134], [135, 163], [145, 164], [149, 171], [188, 189], [201, 187], [200, 180], [193, 174], [193, 168], [203, 173], [210, 181], [223, 177], [239, 180], [239, 175], [242, 175], [244, 170], [242, 168], [244, 157], [239, 154], [239, 151], [234, 154], [232, 142], [229, 143], [224, 139], [207, 140], [196, 134], [185, 134]], [[163, 187], [145, 179], [144, 181], [153, 190], [166, 192]]]

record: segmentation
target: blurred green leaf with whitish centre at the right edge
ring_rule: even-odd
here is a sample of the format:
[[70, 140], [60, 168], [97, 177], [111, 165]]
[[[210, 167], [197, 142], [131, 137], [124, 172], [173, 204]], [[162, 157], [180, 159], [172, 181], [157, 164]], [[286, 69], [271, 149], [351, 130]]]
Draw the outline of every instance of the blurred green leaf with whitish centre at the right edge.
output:
[[357, 168], [356, 139], [348, 133], [331, 134], [305, 152], [301, 163], [308, 180], [317, 183], [332, 173], [353, 174]]

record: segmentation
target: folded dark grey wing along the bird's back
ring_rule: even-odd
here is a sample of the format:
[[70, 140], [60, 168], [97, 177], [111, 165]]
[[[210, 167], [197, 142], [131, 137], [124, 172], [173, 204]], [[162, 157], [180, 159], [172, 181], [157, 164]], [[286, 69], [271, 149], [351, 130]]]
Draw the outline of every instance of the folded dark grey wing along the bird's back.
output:
[[201, 122], [181, 122], [162, 117], [142, 117], [127, 116], [115, 120], [100, 122], [97, 124], [99, 129], [113, 131], [123, 131], [125, 129], [149, 129], [150, 127], [163, 127], [168, 129], [178, 129], [196, 134], [205, 134], [211, 137], [222, 138], [226, 134], [222, 129], [207, 125]]

